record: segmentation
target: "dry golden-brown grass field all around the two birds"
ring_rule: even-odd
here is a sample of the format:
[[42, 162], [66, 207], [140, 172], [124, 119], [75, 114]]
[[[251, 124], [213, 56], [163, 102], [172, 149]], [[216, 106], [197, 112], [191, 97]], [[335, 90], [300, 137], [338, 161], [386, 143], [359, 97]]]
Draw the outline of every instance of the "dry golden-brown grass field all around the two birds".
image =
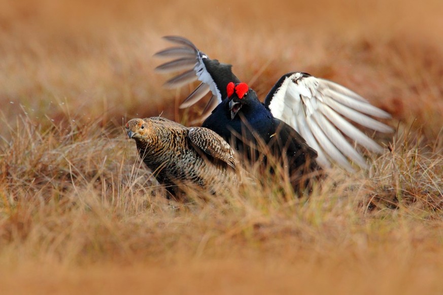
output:
[[[443, 2], [0, 0], [0, 293], [443, 293]], [[178, 110], [183, 35], [260, 97], [302, 70], [388, 110], [369, 171], [163, 198], [123, 123]]]

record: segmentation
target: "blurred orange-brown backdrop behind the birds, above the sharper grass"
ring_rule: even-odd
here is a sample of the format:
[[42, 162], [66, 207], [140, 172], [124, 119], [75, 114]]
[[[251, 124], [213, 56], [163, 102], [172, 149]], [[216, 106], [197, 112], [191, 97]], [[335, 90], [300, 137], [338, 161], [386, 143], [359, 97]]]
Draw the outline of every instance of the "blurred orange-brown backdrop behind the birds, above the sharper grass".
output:
[[[14, 121], [122, 126], [177, 110], [191, 88], [162, 88], [153, 54], [182, 35], [267, 93], [288, 71], [343, 84], [435, 138], [443, 125], [443, 2], [0, 2], [0, 104]], [[94, 121], [95, 122], [95, 121]], [[2, 131], [0, 131], [0, 134]], [[5, 134], [2, 134], [5, 135]]]

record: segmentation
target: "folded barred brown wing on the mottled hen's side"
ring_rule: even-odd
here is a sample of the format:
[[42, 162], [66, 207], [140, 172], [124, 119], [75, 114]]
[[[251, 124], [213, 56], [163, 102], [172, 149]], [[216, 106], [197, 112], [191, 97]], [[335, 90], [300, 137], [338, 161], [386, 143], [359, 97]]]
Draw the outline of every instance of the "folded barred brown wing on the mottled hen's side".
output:
[[194, 147], [235, 169], [235, 156], [229, 144], [214, 131], [204, 127], [189, 128], [188, 138]]

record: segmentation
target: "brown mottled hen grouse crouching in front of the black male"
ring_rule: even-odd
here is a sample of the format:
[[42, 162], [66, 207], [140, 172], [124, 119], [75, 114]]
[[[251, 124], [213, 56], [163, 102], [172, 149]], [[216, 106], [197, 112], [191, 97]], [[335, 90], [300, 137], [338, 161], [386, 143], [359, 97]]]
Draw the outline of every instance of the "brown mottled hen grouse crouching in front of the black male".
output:
[[198, 185], [216, 193], [237, 182], [234, 152], [210, 129], [187, 128], [162, 117], [151, 117], [128, 121], [126, 132], [137, 143], [143, 162], [173, 196], [183, 192], [182, 185]]

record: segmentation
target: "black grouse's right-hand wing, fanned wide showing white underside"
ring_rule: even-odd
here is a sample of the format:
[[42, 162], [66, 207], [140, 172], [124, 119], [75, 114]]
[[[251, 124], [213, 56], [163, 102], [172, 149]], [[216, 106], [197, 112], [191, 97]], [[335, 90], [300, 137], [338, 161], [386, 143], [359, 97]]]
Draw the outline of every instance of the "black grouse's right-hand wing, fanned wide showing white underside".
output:
[[372, 152], [383, 151], [379, 144], [349, 121], [375, 131], [393, 131], [369, 117], [391, 118], [384, 110], [341, 85], [302, 72], [287, 73], [280, 78], [267, 94], [264, 104], [274, 117], [291, 125], [317, 151], [317, 161], [323, 167], [336, 162], [353, 171], [349, 158], [367, 168], [355, 144]]

